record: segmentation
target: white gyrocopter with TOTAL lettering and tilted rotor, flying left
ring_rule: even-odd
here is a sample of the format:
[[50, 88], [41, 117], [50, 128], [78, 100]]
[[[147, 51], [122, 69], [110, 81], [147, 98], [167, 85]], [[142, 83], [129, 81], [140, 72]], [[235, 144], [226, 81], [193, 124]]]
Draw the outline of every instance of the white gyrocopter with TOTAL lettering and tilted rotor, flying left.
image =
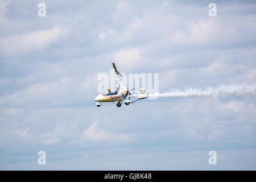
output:
[[[96, 98], [94, 98], [94, 101], [96, 101], [96, 105], [98, 107], [101, 106], [101, 102], [117, 102], [117, 106], [121, 107], [122, 102], [125, 102], [125, 105], [129, 105], [130, 103], [134, 103], [137, 100], [144, 99], [148, 97], [148, 90], [141, 88], [139, 90], [139, 93], [137, 94], [137, 100], [131, 102], [130, 100], [130, 95], [131, 95], [131, 90], [133, 89], [128, 89], [125, 86], [122, 85], [122, 82], [120, 80], [120, 77], [122, 77], [121, 73], [117, 71], [117, 68], [115, 67], [115, 64], [112, 63], [114, 70], [115, 70], [115, 75], [118, 80], [118, 87], [117, 90], [115, 90], [114, 93], [110, 94], [98, 94]], [[126, 97], [129, 95], [129, 99]]]

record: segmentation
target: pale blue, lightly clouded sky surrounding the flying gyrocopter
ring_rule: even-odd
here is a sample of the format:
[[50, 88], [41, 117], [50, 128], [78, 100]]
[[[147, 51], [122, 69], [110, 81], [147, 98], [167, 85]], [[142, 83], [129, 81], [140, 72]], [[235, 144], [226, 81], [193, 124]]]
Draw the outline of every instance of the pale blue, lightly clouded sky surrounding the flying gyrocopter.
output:
[[94, 101], [113, 62], [162, 93], [255, 84], [255, 1], [0, 0], [0, 27], [0, 170], [256, 169], [255, 95]]

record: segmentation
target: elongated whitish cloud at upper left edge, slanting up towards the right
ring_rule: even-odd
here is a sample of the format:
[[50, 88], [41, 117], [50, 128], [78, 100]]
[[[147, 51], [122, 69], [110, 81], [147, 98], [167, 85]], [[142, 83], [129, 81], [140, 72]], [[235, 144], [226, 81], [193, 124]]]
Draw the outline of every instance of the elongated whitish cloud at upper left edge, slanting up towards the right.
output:
[[1, 54], [23, 55], [37, 49], [43, 49], [53, 43], [67, 38], [69, 30], [64, 26], [55, 26], [50, 30], [35, 31], [22, 35], [13, 35], [2, 38], [0, 43]]

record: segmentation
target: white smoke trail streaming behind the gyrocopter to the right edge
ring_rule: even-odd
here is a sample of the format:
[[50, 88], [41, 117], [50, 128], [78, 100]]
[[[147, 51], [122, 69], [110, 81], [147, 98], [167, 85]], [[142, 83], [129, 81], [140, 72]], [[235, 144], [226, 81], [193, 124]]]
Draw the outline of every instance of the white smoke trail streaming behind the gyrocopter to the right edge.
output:
[[218, 85], [209, 88], [187, 88], [185, 90], [172, 90], [165, 93], [149, 94], [149, 97], [224, 97], [255, 95], [256, 84], [247, 85]]

